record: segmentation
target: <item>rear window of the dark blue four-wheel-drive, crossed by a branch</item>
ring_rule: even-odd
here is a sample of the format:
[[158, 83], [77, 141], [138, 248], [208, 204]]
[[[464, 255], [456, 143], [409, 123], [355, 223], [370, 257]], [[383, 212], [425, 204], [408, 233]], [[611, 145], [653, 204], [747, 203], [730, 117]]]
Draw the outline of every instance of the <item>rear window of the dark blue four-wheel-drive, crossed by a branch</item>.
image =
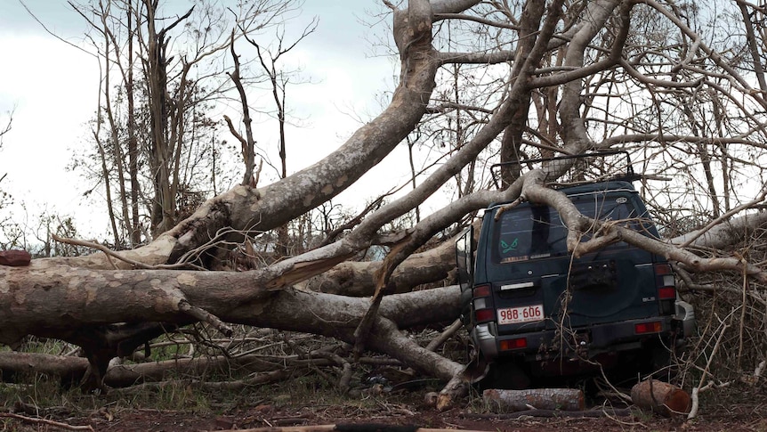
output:
[[[573, 203], [578, 210], [592, 218], [601, 220], [626, 220], [629, 227], [642, 231], [638, 222], [639, 215], [634, 211], [625, 196], [585, 195], [575, 197]], [[559, 213], [548, 206], [521, 206], [506, 211], [496, 224], [493, 233], [495, 246], [494, 261], [498, 264], [513, 263], [535, 258], [567, 255], [567, 230], [562, 224]], [[591, 236], [585, 233], [583, 240]], [[619, 242], [609, 249], [626, 247]]]

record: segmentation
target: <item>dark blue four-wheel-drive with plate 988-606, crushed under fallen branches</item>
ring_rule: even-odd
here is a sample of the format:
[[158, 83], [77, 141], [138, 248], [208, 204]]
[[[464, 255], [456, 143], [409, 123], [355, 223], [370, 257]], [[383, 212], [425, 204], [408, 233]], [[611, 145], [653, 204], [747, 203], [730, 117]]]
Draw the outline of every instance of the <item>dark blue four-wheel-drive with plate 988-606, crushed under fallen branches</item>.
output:
[[[626, 157], [621, 175], [553, 187], [584, 216], [658, 238], [631, 183], [639, 175], [628, 153], [525, 163], [616, 155]], [[479, 237], [474, 240], [469, 229], [456, 245], [464, 323], [480, 363], [493, 366], [491, 384], [528, 387], [531, 380], [593, 374], [600, 368], [610, 377], [635, 378], [666, 367], [695, 326], [692, 306], [677, 296], [666, 258], [626, 242], [573, 257], [568, 231], [554, 208], [508, 204], [486, 208]], [[591, 234], [584, 232], [581, 239]]]

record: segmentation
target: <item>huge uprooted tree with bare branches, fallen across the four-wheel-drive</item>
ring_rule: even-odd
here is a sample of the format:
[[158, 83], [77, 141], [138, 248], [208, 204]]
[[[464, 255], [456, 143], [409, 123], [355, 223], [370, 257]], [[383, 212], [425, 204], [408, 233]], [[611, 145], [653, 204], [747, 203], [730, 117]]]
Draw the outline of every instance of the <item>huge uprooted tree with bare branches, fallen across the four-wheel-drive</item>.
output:
[[[762, 6], [733, 2], [713, 11], [655, 0], [384, 3], [391, 9], [400, 79], [377, 117], [311, 167], [262, 187], [246, 177], [145, 246], [0, 266], [0, 342], [14, 345], [36, 335], [81, 346], [90, 364], [85, 387], [93, 388], [103, 386], [110, 360], [192, 322], [224, 334], [232, 324], [310, 332], [351, 344], [358, 355], [372, 349], [446, 379], [449, 400], [467, 386], [463, 365], [402, 332], [453, 322], [460, 311], [454, 286], [408, 292], [422, 283], [451, 281], [451, 245], [424, 245], [466, 225], [467, 215], [491, 202], [530, 200], [560, 211], [575, 254], [620, 239], [673, 260], [690, 289], [734, 290], [741, 303], [706, 329], [739, 327], [739, 355], [744, 344], [763, 350], [763, 334], [744, 331], [743, 323], [747, 315], [764, 316], [762, 258], [755, 251], [722, 250], [757, 239], [765, 219], [753, 211], [764, 199]], [[717, 20], [721, 14], [731, 19]], [[710, 20], [720, 27], [706, 26]], [[240, 138], [245, 148], [253, 137]], [[410, 192], [368, 208], [319, 247], [273, 263], [251, 259], [244, 271], [229, 271], [238, 267], [233, 257], [254, 258], [248, 257], [254, 236], [333, 199], [406, 138], [442, 152], [439, 165], [417, 182], [414, 177]], [[481, 187], [488, 161], [606, 149], [634, 155], [646, 174], [642, 194], [673, 240], [652, 240], [579, 215], [546, 187], [565, 167], [508, 170], [498, 190]], [[591, 173], [599, 167], [577, 169]], [[666, 181], [654, 180], [661, 177]], [[399, 232], [382, 232], [456, 180], [456, 197], [444, 208]], [[598, 235], [579, 243], [578, 233], [594, 225]], [[372, 245], [388, 247], [383, 261], [352, 261]], [[714, 271], [734, 274], [740, 288], [695, 279], [695, 273]], [[742, 367], [761, 358], [763, 353], [749, 357], [754, 363]]]

